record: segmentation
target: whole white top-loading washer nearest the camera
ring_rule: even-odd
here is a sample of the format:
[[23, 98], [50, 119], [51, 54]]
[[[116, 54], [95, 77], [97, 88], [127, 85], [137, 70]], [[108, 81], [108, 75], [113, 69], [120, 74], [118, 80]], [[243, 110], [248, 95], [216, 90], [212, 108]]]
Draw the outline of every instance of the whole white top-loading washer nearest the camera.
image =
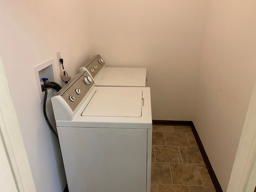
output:
[[82, 71], [52, 106], [70, 192], [150, 192], [150, 88], [96, 87]]

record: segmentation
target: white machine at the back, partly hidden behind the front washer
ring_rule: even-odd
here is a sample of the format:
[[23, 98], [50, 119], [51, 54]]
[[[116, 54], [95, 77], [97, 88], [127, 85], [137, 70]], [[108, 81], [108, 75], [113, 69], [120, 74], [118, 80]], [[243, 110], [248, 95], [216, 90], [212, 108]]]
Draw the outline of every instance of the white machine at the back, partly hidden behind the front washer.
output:
[[94, 56], [82, 68], [88, 70], [95, 86], [145, 87], [146, 68], [106, 67], [100, 55]]

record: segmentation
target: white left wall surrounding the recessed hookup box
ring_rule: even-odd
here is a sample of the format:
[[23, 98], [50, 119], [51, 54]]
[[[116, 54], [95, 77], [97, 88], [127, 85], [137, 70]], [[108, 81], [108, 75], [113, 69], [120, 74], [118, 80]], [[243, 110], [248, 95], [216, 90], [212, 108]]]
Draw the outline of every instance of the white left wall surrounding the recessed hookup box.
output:
[[[80, 0], [1, 2], [0, 55], [37, 192], [62, 192], [66, 181], [58, 141], [44, 120], [33, 67], [50, 58], [56, 64], [60, 50], [66, 70], [74, 76], [93, 56], [84, 7]], [[59, 71], [56, 65], [58, 83]]]

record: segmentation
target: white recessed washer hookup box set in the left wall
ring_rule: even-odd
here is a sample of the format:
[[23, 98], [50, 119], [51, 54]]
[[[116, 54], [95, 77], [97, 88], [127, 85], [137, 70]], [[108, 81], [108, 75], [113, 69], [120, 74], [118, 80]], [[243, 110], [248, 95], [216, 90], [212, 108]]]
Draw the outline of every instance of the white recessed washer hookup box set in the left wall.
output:
[[[44, 101], [44, 92], [42, 92], [42, 89], [41, 89], [39, 72], [41, 70], [47, 68], [47, 67], [49, 67], [48, 76], [45, 76], [45, 77], [48, 78], [49, 81], [54, 82], [54, 73], [55, 73], [55, 71], [54, 71], [54, 58], [52, 58], [52, 59], [34, 67], [34, 72], [35, 72], [35, 77], [36, 77], [36, 85], [38, 87], [40, 103], [42, 103]], [[53, 92], [54, 92], [53, 89], [48, 89], [47, 97], [50, 96]]]

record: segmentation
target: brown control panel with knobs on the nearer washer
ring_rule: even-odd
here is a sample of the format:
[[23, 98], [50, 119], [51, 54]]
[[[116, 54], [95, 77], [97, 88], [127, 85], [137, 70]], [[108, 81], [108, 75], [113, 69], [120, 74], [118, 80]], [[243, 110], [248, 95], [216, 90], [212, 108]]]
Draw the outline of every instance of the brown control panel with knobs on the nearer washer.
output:
[[56, 95], [62, 96], [72, 111], [80, 104], [84, 96], [94, 84], [90, 74], [82, 71], [66, 84]]

